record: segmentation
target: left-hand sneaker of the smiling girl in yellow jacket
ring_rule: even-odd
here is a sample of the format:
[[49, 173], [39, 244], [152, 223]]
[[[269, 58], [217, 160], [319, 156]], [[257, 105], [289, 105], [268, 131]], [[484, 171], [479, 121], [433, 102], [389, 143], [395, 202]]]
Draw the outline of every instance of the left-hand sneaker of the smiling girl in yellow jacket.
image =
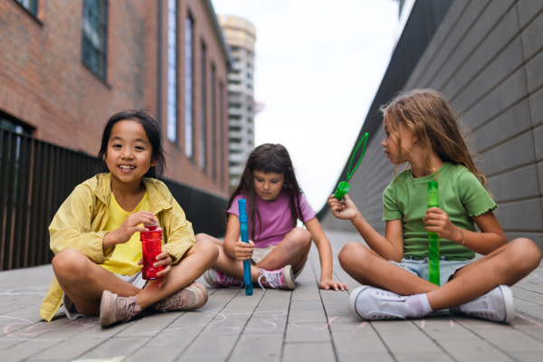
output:
[[100, 326], [108, 327], [113, 323], [126, 322], [141, 312], [136, 297], [119, 297], [110, 291], [104, 291], [100, 301]]

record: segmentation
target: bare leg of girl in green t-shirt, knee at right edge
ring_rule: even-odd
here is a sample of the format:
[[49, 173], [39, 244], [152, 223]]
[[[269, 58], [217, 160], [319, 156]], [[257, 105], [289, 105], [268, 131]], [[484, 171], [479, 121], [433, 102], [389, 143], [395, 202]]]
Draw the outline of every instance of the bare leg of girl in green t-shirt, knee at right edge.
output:
[[516, 239], [476, 262], [463, 267], [452, 281], [430, 291], [433, 310], [455, 307], [481, 297], [505, 284], [513, 285], [536, 269], [541, 262], [538, 246], [529, 239]]

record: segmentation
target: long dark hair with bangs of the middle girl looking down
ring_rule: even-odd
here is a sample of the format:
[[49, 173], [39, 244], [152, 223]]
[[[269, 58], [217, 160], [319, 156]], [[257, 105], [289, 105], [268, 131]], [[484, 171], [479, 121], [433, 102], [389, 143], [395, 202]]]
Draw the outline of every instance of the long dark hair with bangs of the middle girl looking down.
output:
[[258, 234], [260, 237], [260, 234], [262, 233], [262, 219], [254, 201], [254, 176], [252, 174], [254, 171], [260, 171], [264, 174], [272, 172], [285, 176], [284, 187], [289, 194], [289, 207], [291, 208], [291, 219], [292, 224], [294, 225], [296, 225], [298, 218], [301, 217], [301, 190], [300, 186], [298, 186], [298, 181], [296, 181], [294, 167], [292, 167], [291, 156], [289, 155], [287, 148], [284, 148], [284, 146], [279, 144], [274, 145], [266, 143], [252, 150], [247, 158], [245, 167], [243, 168], [242, 176], [240, 176], [240, 184], [233, 190], [233, 194], [230, 196], [230, 201], [228, 201], [226, 209], [228, 210], [230, 206], [232, 206], [233, 199], [236, 195], [239, 195], [242, 192], [247, 194], [247, 213], [249, 220], [251, 221], [249, 235], [253, 241], [256, 241], [255, 220], [258, 218], [260, 227]]

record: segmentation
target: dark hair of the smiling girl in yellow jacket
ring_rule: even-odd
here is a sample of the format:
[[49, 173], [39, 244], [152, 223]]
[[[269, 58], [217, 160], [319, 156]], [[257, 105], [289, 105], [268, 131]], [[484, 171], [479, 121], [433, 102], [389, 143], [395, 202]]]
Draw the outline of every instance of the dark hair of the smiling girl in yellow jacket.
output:
[[138, 122], [145, 129], [145, 133], [149, 138], [149, 142], [153, 148], [153, 159], [157, 160], [158, 163], [156, 166], [150, 167], [144, 177], [159, 178], [164, 175], [166, 171], [166, 152], [162, 148], [162, 128], [157, 119], [151, 116], [146, 110], [123, 110], [111, 116], [104, 125], [98, 158], [100, 160], [104, 159], [108, 154], [111, 129], [121, 120], [134, 120]]

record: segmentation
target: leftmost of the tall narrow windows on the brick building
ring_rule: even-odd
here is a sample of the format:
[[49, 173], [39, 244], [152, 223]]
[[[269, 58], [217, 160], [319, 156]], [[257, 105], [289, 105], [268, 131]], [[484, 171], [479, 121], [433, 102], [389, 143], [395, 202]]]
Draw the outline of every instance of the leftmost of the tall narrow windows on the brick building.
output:
[[167, 2], [167, 139], [177, 141], [176, 0]]

